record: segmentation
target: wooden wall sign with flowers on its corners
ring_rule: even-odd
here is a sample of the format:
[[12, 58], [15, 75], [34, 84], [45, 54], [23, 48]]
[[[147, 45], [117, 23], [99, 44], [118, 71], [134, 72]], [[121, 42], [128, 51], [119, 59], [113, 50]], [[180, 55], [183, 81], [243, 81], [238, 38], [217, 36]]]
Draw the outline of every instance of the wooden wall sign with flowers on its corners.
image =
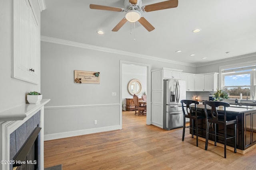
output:
[[100, 72], [74, 70], [74, 82], [100, 84]]

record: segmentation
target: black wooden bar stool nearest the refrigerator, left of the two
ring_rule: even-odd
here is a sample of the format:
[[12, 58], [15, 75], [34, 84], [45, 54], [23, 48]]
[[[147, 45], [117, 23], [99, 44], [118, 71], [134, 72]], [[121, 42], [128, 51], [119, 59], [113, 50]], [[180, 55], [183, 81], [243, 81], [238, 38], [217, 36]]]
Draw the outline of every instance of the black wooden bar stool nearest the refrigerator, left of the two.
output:
[[[196, 146], [198, 147], [198, 119], [205, 119], [205, 115], [198, 115], [196, 105], [199, 104], [198, 101], [195, 100], [182, 100], [180, 101], [182, 103], [182, 111], [183, 111], [183, 133], [182, 133], [182, 141], [184, 141], [185, 136], [185, 128], [192, 129], [192, 138], [194, 138], [194, 131], [196, 131]], [[184, 104], [186, 106], [184, 106]], [[194, 104], [195, 109], [192, 110], [190, 108], [190, 105]], [[186, 107], [186, 110], [184, 109]], [[192, 119], [192, 125], [186, 126], [186, 118]], [[196, 126], [194, 126], [194, 121], [196, 123]], [[200, 128], [200, 130], [205, 130]]]

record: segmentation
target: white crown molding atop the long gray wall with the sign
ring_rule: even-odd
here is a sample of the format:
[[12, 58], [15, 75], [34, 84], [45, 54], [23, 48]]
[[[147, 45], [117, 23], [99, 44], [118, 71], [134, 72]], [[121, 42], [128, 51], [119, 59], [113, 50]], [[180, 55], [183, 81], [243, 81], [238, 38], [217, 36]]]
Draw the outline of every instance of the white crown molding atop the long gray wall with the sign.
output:
[[190, 63], [177, 62], [177, 61], [172, 61], [172, 60], [167, 60], [167, 59], [161, 59], [161, 58], [153, 57], [153, 56], [149, 56], [149, 55], [141, 55], [141, 54], [137, 54], [137, 53], [130, 53], [130, 52], [127, 52], [127, 51], [120, 51], [120, 50], [116, 50], [116, 49], [98, 47], [98, 46], [95, 46], [95, 45], [77, 43], [77, 42], [74, 42], [74, 41], [68, 41], [68, 40], [64, 40], [64, 39], [57, 39], [57, 38], [52, 38], [52, 37], [41, 36], [41, 41], [45, 41], [45, 42], [48, 42], [48, 43], [68, 45], [68, 46], [73, 46], [73, 47], [79, 47], [79, 48], [84, 48], [84, 49], [91, 49], [91, 50], [96, 50], [96, 51], [103, 51], [103, 52], [107, 52], [107, 53], [127, 55], [127, 56], [131, 56], [131, 57], [138, 57], [140, 59], [147, 59], [147, 60], [161, 61], [161, 62], [165, 62], [165, 63], [180, 64], [180, 65], [184, 65], [184, 66], [196, 67], [196, 64], [190, 64]]

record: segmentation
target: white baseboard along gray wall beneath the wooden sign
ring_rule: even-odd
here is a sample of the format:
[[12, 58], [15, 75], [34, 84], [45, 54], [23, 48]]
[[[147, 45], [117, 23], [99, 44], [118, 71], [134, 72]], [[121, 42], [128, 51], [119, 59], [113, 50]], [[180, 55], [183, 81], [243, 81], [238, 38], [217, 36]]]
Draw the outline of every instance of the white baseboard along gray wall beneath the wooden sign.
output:
[[106, 131], [114, 131], [122, 129], [122, 125], [115, 125], [115, 126], [108, 126], [108, 127], [99, 127], [94, 129], [84, 129], [79, 131], [70, 131], [64, 133], [54, 133], [50, 135], [44, 135], [44, 141], [54, 140], [54, 139], [61, 139], [66, 137], [74, 137], [80, 135], [87, 135], [91, 133], [99, 133], [99, 132], [106, 132]]

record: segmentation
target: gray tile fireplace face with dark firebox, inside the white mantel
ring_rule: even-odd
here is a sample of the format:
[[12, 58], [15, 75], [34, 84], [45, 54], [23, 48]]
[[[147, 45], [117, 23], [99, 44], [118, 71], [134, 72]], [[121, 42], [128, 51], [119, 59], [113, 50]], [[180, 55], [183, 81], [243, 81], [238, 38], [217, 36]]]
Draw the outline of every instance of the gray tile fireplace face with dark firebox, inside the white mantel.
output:
[[10, 134], [10, 170], [40, 168], [40, 111]]

